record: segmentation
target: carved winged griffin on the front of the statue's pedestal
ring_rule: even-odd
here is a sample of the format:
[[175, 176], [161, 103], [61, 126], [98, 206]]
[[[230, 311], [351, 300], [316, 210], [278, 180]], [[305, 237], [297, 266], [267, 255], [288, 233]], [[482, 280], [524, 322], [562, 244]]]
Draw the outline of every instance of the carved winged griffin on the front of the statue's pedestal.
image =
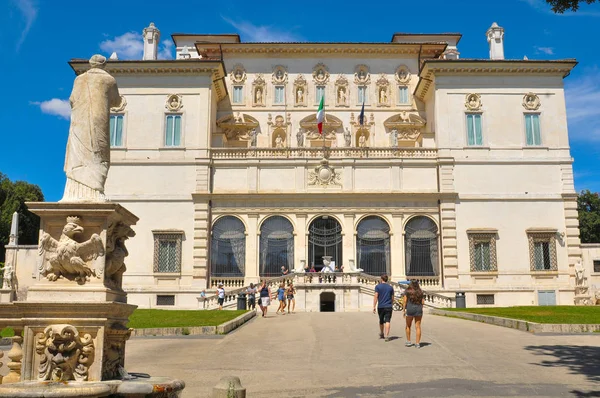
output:
[[[98, 234], [85, 242], [78, 242], [83, 233], [79, 225], [79, 217], [67, 217], [59, 240], [44, 233], [40, 239], [40, 256], [45, 256], [42, 275], [48, 280], [55, 281], [61, 276], [85, 282], [95, 271], [87, 266], [87, 262], [104, 255], [104, 245]], [[43, 264], [43, 263], [42, 263]]]

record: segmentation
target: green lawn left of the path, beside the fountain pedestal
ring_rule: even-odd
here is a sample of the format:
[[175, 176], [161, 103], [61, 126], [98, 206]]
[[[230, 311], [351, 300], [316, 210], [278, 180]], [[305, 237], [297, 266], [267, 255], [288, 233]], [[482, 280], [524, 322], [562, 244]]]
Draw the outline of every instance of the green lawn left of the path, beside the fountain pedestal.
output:
[[218, 326], [245, 312], [137, 309], [129, 318], [128, 326], [134, 329]]

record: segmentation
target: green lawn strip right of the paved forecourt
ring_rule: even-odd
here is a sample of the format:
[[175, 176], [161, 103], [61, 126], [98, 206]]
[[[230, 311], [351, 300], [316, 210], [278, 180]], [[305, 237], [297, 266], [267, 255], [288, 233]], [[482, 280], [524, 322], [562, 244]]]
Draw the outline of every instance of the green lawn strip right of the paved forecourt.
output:
[[600, 307], [543, 306], [506, 308], [448, 308], [450, 311], [470, 312], [536, 323], [600, 324]]

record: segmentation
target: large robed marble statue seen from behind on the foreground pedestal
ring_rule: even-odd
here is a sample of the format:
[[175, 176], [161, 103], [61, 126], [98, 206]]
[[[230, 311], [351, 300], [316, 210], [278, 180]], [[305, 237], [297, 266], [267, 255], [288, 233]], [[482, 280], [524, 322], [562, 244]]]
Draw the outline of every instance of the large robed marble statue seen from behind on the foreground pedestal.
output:
[[110, 108], [121, 104], [117, 81], [104, 71], [106, 58], [94, 55], [90, 69], [73, 84], [71, 127], [65, 156], [67, 183], [61, 201], [105, 201], [110, 167]]

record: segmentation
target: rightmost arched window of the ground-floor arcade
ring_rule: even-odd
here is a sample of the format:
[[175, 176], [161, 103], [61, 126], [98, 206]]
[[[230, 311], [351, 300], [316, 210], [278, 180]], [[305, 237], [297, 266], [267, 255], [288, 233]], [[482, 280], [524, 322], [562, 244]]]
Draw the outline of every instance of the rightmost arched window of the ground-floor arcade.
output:
[[437, 226], [430, 218], [412, 218], [405, 227], [406, 276], [436, 276]]

